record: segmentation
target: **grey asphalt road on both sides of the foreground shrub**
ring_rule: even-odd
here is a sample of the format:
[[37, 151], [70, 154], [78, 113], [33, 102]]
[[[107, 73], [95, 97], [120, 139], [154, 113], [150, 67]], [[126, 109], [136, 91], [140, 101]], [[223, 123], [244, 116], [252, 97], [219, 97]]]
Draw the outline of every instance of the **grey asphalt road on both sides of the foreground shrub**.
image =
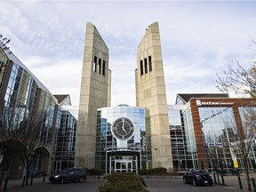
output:
[[[235, 178], [236, 179], [236, 178]], [[17, 180], [19, 181], [19, 180]], [[87, 179], [84, 183], [65, 183], [61, 184], [52, 184], [48, 180], [42, 182], [41, 179], [34, 181], [32, 186], [21, 187], [21, 180], [15, 185], [10, 183], [7, 188], [7, 192], [96, 192], [100, 185], [104, 182], [103, 179]], [[211, 186], [198, 186], [195, 187], [189, 184], [183, 184], [182, 179], [145, 179], [145, 182], [148, 186], [149, 192], [241, 192], [237, 187], [232, 185], [221, 186], [213, 185]], [[120, 191], [122, 192], [122, 191]]]

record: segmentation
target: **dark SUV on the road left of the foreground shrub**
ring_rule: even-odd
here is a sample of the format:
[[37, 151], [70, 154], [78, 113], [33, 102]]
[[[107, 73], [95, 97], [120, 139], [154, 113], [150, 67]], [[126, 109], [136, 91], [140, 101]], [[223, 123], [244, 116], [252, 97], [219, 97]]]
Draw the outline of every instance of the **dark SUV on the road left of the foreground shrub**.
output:
[[61, 171], [60, 173], [52, 174], [49, 180], [52, 183], [60, 182], [63, 184], [68, 181], [84, 182], [87, 179], [87, 173], [84, 168], [69, 168]]

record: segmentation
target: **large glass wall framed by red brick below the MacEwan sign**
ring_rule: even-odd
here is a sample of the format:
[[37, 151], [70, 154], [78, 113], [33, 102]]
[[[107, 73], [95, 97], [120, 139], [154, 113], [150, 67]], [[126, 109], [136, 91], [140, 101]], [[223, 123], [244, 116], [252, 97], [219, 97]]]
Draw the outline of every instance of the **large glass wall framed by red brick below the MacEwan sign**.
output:
[[204, 148], [207, 153], [208, 168], [230, 172], [233, 161], [230, 141], [235, 137], [236, 129], [233, 109], [230, 107], [198, 108]]

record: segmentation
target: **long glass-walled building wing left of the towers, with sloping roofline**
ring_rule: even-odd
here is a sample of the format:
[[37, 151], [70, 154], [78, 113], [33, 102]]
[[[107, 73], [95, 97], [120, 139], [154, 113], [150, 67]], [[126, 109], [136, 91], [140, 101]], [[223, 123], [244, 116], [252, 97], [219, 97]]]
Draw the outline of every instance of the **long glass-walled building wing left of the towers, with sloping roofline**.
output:
[[23, 178], [25, 157], [29, 159], [28, 176], [74, 166], [77, 108], [68, 108], [69, 95], [49, 92], [0, 40], [0, 166], [4, 177]]

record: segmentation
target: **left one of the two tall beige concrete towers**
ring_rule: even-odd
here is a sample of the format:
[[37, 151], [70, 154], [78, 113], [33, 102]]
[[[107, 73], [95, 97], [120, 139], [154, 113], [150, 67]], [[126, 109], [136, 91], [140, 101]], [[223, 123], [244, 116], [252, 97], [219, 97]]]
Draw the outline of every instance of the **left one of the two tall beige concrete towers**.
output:
[[87, 23], [80, 91], [75, 165], [95, 167], [97, 109], [110, 106], [108, 47], [97, 28]]

